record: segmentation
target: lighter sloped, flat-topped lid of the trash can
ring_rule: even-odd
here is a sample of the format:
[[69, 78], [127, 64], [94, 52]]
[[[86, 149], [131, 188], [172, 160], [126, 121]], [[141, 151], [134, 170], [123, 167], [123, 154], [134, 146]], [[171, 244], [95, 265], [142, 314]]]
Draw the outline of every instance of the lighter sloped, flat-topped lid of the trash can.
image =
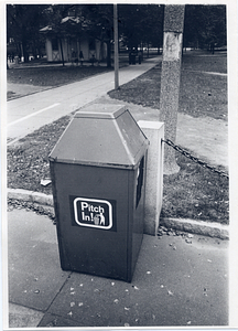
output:
[[133, 169], [148, 145], [147, 137], [125, 106], [93, 104], [75, 114], [50, 160]]

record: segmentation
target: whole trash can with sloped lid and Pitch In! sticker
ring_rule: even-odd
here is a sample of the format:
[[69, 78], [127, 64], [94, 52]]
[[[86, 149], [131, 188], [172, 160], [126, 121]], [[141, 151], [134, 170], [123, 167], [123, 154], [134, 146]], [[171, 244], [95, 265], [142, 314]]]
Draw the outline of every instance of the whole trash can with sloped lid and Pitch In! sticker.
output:
[[143, 238], [148, 145], [121, 105], [76, 113], [50, 154], [63, 270], [131, 281]]

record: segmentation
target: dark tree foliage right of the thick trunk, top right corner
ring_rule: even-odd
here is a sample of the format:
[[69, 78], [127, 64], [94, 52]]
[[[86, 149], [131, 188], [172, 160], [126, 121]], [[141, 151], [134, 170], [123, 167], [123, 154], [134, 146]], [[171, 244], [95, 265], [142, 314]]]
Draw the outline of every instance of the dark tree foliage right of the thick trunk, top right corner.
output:
[[223, 46], [226, 36], [226, 6], [187, 4], [184, 20], [184, 46]]

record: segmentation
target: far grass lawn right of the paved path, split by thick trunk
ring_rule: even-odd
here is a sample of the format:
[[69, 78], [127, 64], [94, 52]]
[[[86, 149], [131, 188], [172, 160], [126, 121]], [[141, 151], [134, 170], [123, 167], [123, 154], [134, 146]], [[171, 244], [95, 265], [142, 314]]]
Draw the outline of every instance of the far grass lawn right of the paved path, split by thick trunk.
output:
[[[198, 53], [199, 54], [199, 53]], [[178, 111], [193, 117], [213, 117], [227, 120], [227, 77], [203, 72], [226, 71], [226, 57], [221, 55], [193, 56], [185, 53], [181, 72]], [[161, 64], [112, 90], [109, 96], [155, 109], [160, 108]]]

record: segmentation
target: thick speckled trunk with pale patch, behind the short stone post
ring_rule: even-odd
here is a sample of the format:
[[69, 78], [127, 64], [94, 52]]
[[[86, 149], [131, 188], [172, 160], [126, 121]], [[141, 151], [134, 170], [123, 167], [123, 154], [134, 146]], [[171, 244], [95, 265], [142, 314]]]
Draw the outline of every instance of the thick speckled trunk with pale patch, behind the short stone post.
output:
[[[176, 142], [184, 11], [185, 6], [181, 4], [166, 4], [164, 9], [160, 121], [164, 122], [164, 138], [173, 142]], [[164, 146], [164, 173], [178, 171], [175, 151], [170, 146]]]

